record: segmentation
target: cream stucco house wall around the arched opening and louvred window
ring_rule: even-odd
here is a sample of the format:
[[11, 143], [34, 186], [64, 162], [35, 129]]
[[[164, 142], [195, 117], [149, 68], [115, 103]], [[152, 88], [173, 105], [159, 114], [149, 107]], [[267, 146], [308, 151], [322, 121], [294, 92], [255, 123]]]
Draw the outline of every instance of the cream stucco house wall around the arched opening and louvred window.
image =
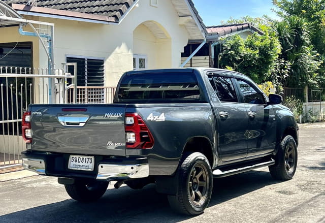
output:
[[[104, 58], [106, 86], [116, 86], [124, 72], [133, 70], [134, 53], [148, 54], [149, 69], [179, 67], [180, 53], [189, 37], [186, 28], [178, 24], [177, 12], [170, 1], [159, 1], [158, 7], [152, 7], [149, 0], [142, 0], [119, 25], [41, 20], [55, 24], [56, 68], [66, 61], [66, 55]], [[156, 39], [141, 25], [148, 20], [163, 26], [170, 39]], [[136, 41], [141, 44], [134, 45], [134, 30], [138, 26]]]

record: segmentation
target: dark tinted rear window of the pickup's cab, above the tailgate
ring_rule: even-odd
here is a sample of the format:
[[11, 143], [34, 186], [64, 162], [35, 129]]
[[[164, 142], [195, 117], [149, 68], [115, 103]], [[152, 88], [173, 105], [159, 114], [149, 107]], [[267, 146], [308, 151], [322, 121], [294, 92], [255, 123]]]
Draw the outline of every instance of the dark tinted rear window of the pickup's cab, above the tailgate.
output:
[[173, 100], [199, 101], [200, 90], [193, 73], [153, 73], [126, 75], [122, 79], [118, 101], [137, 100], [166, 102]]

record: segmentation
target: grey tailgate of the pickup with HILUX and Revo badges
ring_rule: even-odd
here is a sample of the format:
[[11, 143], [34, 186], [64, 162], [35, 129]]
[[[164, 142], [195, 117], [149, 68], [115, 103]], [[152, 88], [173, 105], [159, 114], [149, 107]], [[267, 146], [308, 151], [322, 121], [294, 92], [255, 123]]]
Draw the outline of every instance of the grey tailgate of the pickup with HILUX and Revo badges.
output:
[[31, 149], [125, 156], [125, 104], [30, 105]]

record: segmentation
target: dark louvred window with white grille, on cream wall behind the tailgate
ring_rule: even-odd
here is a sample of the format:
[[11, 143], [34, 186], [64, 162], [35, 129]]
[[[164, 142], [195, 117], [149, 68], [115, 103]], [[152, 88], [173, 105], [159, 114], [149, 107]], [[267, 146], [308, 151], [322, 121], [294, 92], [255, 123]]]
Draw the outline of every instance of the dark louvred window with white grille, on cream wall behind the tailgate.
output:
[[[77, 63], [78, 103], [104, 103], [104, 59], [87, 57], [67, 57], [67, 62]], [[74, 68], [69, 66], [69, 73]]]

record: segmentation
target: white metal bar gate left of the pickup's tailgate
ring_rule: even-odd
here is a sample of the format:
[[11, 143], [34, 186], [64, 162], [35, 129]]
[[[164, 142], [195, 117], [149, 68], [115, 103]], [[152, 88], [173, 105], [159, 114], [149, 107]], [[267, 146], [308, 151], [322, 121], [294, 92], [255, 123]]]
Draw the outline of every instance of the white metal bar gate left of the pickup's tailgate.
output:
[[[67, 66], [76, 63], [64, 63], [64, 69], [53, 70], [52, 74], [47, 69], [0, 67], [0, 170], [21, 165], [20, 153], [25, 150], [21, 137], [23, 111], [31, 103], [49, 103], [49, 83], [54, 83], [55, 102], [67, 102], [65, 80], [72, 78], [76, 87], [77, 77], [76, 73], [64, 73]], [[72, 97], [76, 102], [75, 93]]]

